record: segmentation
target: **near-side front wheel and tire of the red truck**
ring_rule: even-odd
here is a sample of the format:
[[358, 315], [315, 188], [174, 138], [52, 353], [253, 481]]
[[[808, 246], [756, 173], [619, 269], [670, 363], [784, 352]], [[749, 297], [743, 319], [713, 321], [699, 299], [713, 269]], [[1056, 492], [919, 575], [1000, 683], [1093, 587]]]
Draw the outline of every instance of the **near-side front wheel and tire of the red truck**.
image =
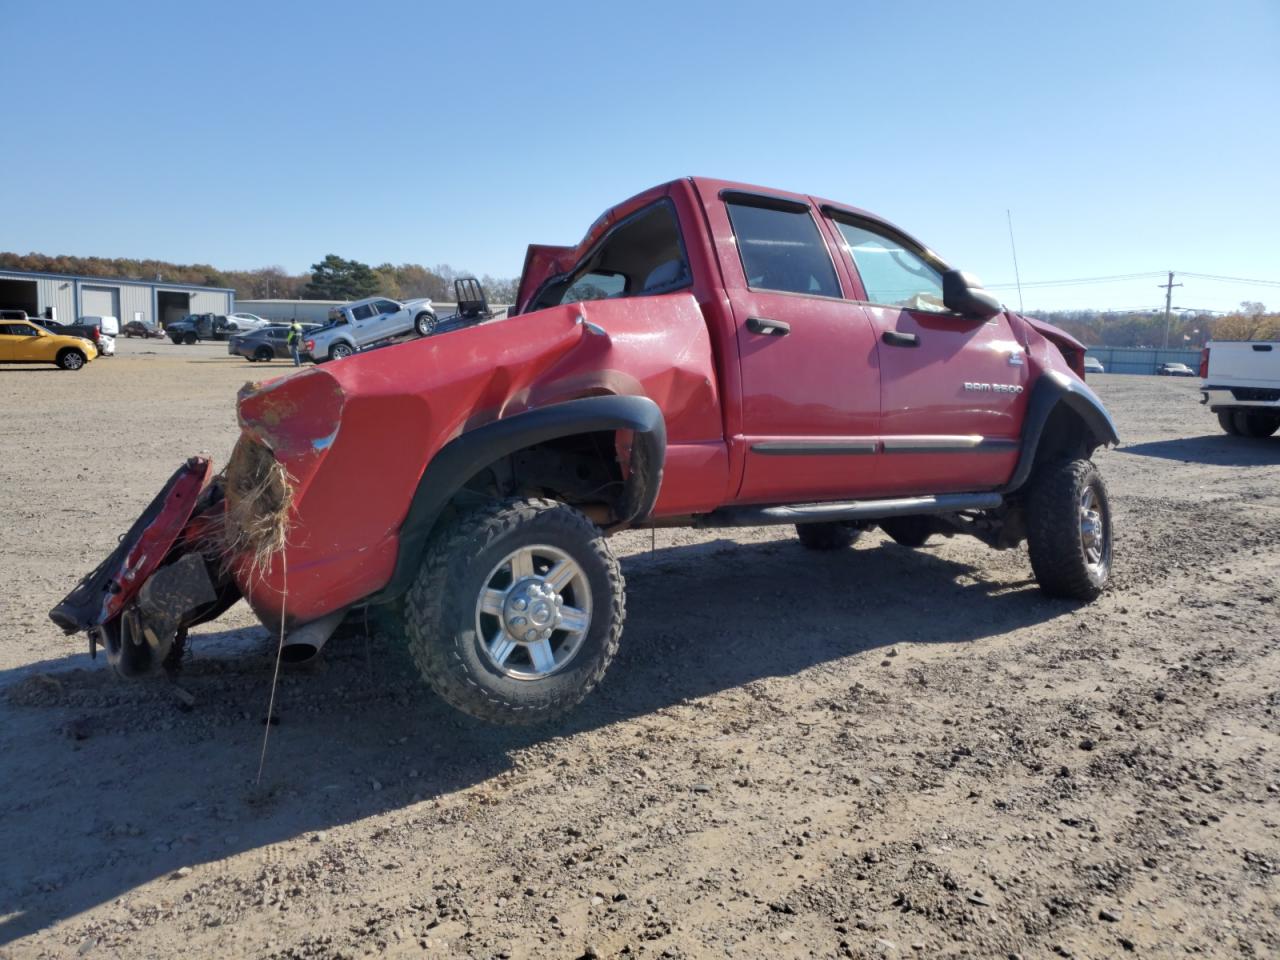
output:
[[1111, 500], [1088, 460], [1042, 466], [1027, 503], [1027, 548], [1041, 590], [1093, 600], [1111, 577]]

